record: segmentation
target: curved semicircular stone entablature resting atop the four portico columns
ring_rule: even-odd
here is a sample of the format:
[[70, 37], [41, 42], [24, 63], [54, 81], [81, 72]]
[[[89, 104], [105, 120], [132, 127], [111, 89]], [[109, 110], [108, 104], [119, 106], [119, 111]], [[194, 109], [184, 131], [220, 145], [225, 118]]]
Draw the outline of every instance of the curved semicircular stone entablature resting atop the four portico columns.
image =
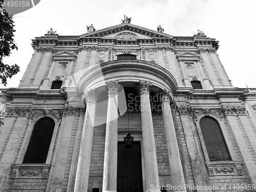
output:
[[100, 89], [105, 82], [139, 82], [140, 80], [153, 83], [154, 87], [176, 92], [177, 82], [166, 69], [152, 62], [143, 60], [113, 60], [101, 63], [91, 69], [78, 81], [78, 91]]

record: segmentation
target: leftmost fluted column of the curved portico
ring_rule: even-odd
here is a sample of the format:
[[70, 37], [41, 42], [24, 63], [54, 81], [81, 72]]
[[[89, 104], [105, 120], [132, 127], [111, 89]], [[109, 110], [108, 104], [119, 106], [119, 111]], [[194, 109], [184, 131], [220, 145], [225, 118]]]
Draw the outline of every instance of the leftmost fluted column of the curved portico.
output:
[[84, 94], [84, 98], [87, 102], [87, 109], [83, 123], [74, 192], [86, 192], [88, 189], [92, 153], [93, 127], [97, 94], [95, 91], [90, 90]]

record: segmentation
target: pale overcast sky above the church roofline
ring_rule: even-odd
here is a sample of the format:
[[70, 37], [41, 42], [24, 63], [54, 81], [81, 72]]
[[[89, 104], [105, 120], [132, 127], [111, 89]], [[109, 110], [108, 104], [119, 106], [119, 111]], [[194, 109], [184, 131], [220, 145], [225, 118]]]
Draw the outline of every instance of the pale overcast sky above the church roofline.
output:
[[193, 36], [198, 29], [219, 42], [217, 51], [234, 87], [256, 88], [256, 1], [217, 0], [41, 0], [35, 7], [14, 15], [15, 42], [4, 63], [20, 66], [20, 72], [0, 88], [16, 88], [29, 64], [31, 39], [50, 28], [59, 35], [81, 35], [86, 26], [96, 30], [121, 24], [124, 14], [131, 24], [151, 30], [161, 25], [173, 36]]

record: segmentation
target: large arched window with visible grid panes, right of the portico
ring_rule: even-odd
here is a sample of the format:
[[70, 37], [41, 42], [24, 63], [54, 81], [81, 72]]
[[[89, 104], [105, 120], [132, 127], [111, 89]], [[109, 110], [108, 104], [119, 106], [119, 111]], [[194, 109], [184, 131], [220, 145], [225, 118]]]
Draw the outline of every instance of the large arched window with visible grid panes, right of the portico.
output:
[[210, 161], [231, 161], [219, 123], [214, 118], [203, 117], [200, 127]]

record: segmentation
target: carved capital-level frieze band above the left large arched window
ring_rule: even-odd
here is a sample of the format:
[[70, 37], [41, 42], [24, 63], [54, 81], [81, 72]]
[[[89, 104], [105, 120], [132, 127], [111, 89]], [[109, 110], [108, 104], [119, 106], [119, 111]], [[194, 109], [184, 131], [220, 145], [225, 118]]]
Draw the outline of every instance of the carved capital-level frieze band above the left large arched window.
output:
[[67, 115], [79, 115], [80, 113], [84, 112], [84, 108], [79, 108], [75, 106], [65, 106], [62, 109], [32, 109], [31, 106], [7, 106], [6, 107], [6, 114], [5, 116], [28, 116], [28, 117], [34, 117], [35, 115], [39, 113], [44, 113], [45, 116], [48, 116], [49, 113], [54, 113], [58, 117], [61, 116], [67, 116]]

